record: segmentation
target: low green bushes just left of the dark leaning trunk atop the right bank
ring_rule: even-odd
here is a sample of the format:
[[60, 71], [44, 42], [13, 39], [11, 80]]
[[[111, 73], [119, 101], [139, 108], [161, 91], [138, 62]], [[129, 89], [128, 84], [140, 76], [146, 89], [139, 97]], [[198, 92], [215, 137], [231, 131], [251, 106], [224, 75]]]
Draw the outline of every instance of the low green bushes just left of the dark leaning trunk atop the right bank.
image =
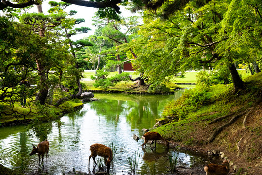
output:
[[222, 67], [218, 71], [212, 71], [209, 74], [207, 71], [201, 71], [197, 74], [197, 83], [205, 83], [209, 86], [217, 84], [232, 83], [231, 75], [226, 67]]

